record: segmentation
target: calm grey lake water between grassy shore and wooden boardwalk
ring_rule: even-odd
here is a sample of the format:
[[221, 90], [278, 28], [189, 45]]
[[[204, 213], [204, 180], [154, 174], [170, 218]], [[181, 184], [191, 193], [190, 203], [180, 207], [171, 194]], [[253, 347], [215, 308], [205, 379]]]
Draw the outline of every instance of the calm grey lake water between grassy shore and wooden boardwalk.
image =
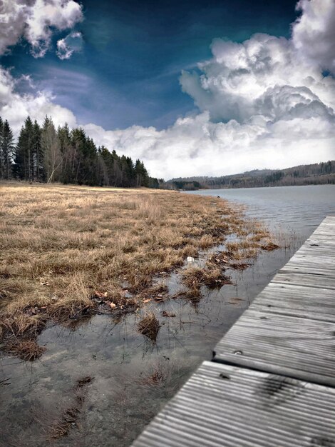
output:
[[[248, 206], [247, 214], [267, 221], [287, 249], [263, 253], [243, 272], [232, 271], [234, 285], [204, 291], [199, 303], [156, 303], [175, 318], [160, 316], [157, 343], [135, 330], [138, 316], [121, 321], [110, 316], [83, 320], [76, 330], [49, 326], [38, 343], [46, 346], [41, 361], [0, 359], [0, 446], [46, 446], [53, 422], [73, 405], [76, 380], [92, 376], [80, 426], [56, 446], [128, 446], [150, 418], [170, 399], [205, 359], [244, 308], [327, 214], [335, 214], [334, 186], [197, 191]], [[200, 260], [201, 261], [201, 260]], [[177, 278], [170, 279], [171, 290]], [[150, 376], [156, 372], [162, 380]], [[9, 379], [7, 385], [1, 384]]]

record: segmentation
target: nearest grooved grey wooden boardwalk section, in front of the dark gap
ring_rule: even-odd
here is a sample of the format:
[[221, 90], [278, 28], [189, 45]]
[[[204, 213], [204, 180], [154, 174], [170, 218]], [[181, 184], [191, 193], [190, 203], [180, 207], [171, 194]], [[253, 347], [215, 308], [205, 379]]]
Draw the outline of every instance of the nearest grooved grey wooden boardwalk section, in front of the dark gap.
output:
[[133, 447], [335, 446], [335, 390], [204, 362]]

